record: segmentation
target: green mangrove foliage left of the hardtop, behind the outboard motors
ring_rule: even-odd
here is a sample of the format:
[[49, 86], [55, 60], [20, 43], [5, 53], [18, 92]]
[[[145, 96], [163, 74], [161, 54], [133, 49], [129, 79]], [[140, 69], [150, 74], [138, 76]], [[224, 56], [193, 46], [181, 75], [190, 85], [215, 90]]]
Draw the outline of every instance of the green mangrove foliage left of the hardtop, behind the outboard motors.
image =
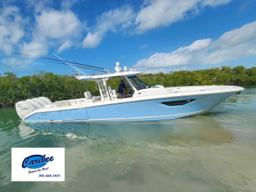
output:
[[76, 80], [67, 75], [54, 75], [40, 72], [38, 75], [17, 78], [14, 73], [0, 76], [0, 106], [12, 107], [16, 102], [35, 97], [48, 97], [56, 100], [70, 100], [84, 97], [83, 92], [90, 90], [99, 95], [95, 82]]

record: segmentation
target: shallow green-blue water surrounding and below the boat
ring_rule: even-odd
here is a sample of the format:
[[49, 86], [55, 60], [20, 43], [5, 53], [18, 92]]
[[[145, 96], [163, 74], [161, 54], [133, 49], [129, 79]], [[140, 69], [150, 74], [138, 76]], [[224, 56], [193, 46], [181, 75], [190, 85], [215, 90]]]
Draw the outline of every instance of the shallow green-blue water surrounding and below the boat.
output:
[[[255, 95], [164, 122], [35, 125], [0, 109], [0, 191], [256, 191]], [[11, 182], [11, 147], [65, 147], [65, 182]]]

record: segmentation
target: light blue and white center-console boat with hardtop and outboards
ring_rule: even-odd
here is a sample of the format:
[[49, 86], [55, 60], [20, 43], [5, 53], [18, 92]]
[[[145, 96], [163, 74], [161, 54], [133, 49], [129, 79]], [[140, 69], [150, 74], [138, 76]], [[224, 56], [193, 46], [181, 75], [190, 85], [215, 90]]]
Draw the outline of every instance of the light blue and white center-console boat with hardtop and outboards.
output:
[[[158, 121], [187, 117], [209, 112], [231, 95], [244, 90], [231, 85], [205, 85], [164, 87], [147, 85], [138, 78], [142, 72], [121, 71], [117, 63], [115, 73], [104, 75], [79, 75], [78, 80], [97, 83], [100, 95], [75, 100], [51, 102], [46, 97], [16, 103], [16, 112], [25, 122], [129, 122]], [[107, 84], [112, 78], [124, 80], [130, 90], [124, 98]]]

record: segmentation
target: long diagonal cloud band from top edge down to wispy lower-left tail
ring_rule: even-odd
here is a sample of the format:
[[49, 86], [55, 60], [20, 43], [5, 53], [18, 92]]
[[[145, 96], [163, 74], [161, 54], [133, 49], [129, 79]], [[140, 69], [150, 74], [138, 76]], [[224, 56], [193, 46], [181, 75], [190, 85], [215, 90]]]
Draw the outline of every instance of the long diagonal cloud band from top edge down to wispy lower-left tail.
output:
[[138, 13], [134, 13], [130, 6], [122, 6], [97, 17], [95, 26], [90, 28], [82, 41], [82, 48], [97, 47], [108, 31], [144, 33], [194, 16], [206, 6], [215, 7], [230, 1], [232, 0], [144, 0]]

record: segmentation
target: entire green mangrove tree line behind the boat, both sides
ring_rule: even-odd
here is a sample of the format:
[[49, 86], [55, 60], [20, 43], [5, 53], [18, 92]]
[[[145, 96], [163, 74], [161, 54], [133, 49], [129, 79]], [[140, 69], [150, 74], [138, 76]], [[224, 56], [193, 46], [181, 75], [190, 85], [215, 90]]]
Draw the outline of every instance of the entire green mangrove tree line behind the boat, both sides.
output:
[[[210, 68], [206, 70], [179, 70], [170, 73], [138, 75], [150, 86], [164, 87], [192, 85], [256, 85], [256, 67], [245, 68]], [[108, 81], [114, 89], [118, 89], [119, 78]], [[73, 76], [55, 75], [40, 71], [36, 75], [18, 78], [14, 73], [0, 74], [0, 107], [13, 107], [16, 102], [34, 97], [48, 97], [56, 100], [70, 100], [84, 97], [90, 90], [92, 95], [100, 95], [96, 82], [79, 81]]]

